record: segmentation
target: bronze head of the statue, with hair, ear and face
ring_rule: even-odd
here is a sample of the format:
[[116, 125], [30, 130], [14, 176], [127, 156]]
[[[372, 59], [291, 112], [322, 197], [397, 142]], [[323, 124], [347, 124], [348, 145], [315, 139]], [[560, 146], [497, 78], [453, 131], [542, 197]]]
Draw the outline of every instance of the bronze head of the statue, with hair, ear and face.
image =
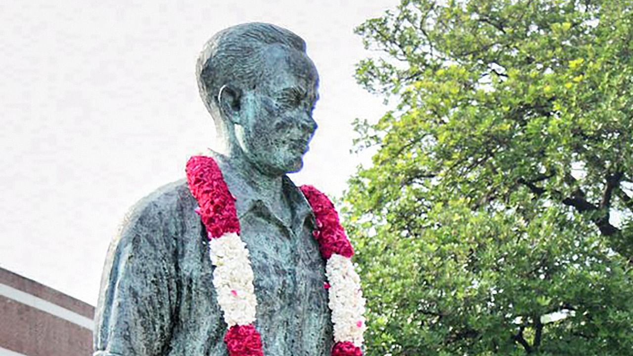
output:
[[197, 62], [203, 101], [232, 152], [260, 172], [303, 167], [316, 123], [318, 73], [296, 34], [244, 23], [215, 34]]

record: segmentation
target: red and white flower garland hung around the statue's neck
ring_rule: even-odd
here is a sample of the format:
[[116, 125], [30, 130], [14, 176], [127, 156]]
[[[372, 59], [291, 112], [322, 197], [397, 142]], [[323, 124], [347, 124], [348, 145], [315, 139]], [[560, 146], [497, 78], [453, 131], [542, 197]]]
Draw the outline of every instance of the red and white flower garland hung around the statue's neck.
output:
[[[213, 286], [218, 304], [229, 329], [224, 336], [230, 356], [263, 356], [260, 333], [255, 329], [257, 300], [253, 286], [253, 268], [248, 248], [239, 237], [240, 226], [235, 211], [235, 197], [222, 177], [215, 160], [193, 156], [187, 162], [187, 183], [198, 201], [196, 213], [206, 227], [209, 238]], [[332, 310], [334, 347], [332, 356], [362, 356], [365, 331], [365, 298], [360, 277], [354, 271], [349, 243], [332, 202], [313, 186], [301, 186], [315, 213], [313, 236], [327, 260], [328, 306]]]

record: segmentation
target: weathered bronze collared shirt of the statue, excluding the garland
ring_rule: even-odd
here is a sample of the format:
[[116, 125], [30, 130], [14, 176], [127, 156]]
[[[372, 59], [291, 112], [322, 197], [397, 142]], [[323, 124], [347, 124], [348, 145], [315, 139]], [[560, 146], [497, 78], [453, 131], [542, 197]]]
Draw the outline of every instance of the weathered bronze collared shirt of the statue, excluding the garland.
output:
[[[325, 261], [314, 216], [292, 181], [283, 194], [291, 226], [261, 200], [249, 178], [214, 156], [248, 246], [257, 297], [256, 328], [266, 356], [329, 355], [332, 323]], [[206, 231], [185, 180], [139, 201], [108, 251], [94, 330], [95, 356], [226, 356], [227, 324], [216, 302]]]

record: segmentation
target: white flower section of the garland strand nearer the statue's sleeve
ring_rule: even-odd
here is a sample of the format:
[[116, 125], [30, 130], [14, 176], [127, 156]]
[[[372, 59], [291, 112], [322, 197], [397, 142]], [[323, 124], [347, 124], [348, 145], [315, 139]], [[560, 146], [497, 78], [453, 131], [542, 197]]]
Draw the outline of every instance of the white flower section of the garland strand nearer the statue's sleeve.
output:
[[257, 299], [253, 287], [253, 268], [246, 244], [230, 232], [209, 242], [213, 271], [213, 286], [218, 304], [229, 327], [255, 321]]

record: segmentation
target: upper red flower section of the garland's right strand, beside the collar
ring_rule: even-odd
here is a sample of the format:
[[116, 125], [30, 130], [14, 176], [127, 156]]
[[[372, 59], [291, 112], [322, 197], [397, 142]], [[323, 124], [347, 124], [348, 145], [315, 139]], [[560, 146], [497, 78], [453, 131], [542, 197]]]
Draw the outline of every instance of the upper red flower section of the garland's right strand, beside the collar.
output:
[[339, 214], [332, 201], [313, 186], [301, 186], [300, 189], [315, 213], [316, 230], [312, 235], [319, 244], [323, 258], [330, 258], [332, 253], [352, 257], [354, 249], [339, 222]]

